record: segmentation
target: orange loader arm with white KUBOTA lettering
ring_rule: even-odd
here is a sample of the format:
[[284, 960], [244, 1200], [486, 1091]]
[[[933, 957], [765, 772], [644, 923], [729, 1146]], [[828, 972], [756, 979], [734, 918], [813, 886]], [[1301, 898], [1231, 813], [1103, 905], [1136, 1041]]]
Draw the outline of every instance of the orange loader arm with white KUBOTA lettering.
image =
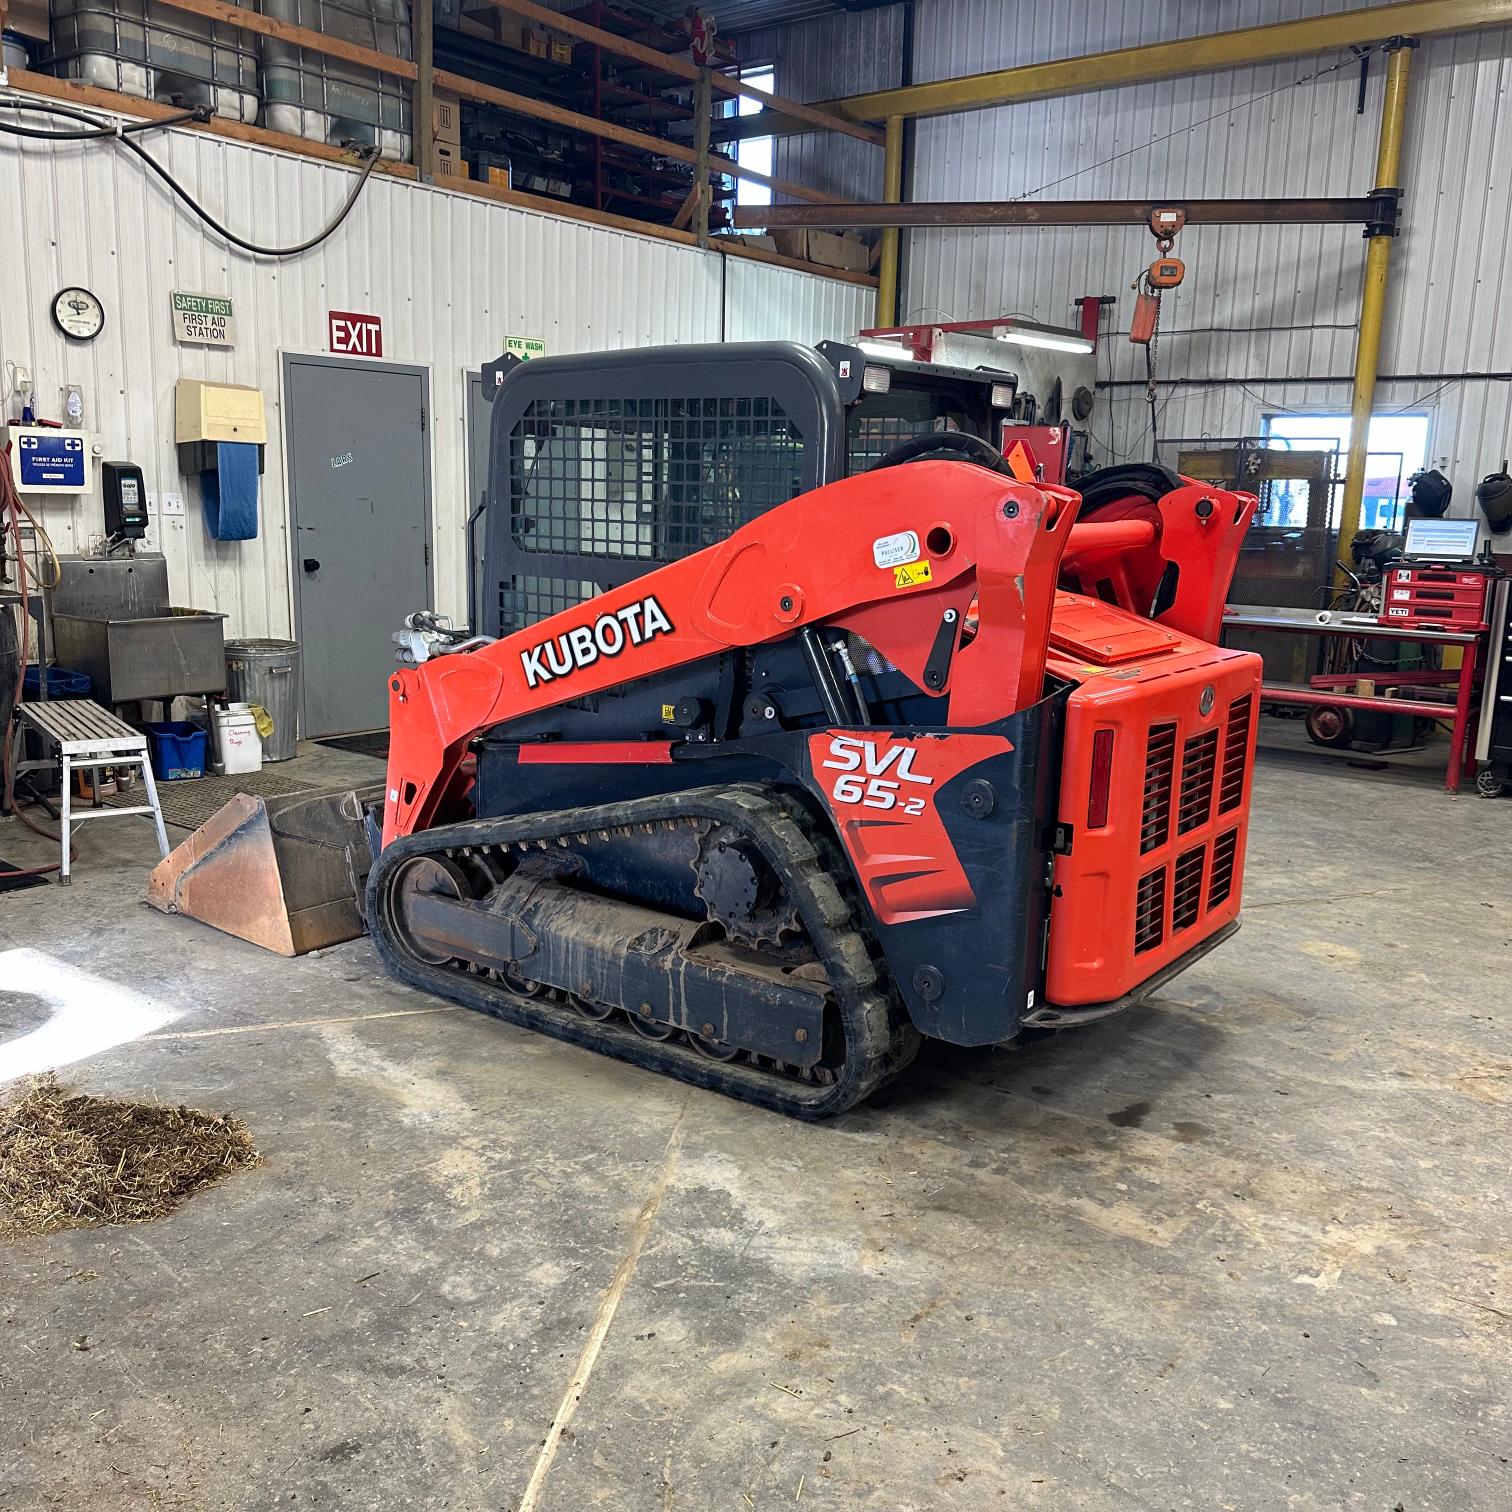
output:
[[[812, 626], [863, 637], [947, 700], [942, 723], [1013, 714], [1042, 692], [1075, 510], [1069, 490], [966, 463], [865, 473], [587, 605], [395, 671], [384, 844], [457, 806], [467, 745], [491, 726]], [[974, 599], [977, 632], [960, 646]]]

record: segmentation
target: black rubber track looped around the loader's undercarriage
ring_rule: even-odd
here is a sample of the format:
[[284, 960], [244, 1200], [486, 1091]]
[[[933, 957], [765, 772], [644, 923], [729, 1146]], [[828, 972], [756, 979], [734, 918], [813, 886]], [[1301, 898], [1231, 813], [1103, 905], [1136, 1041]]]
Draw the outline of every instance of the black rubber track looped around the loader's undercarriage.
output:
[[[647, 1040], [620, 1018], [587, 1019], [567, 1004], [511, 992], [460, 963], [428, 965], [405, 950], [390, 922], [387, 894], [411, 857], [460, 856], [464, 850], [491, 847], [500, 851], [570, 847], [578, 835], [602, 841], [615, 830], [631, 833], [699, 820], [729, 824], [748, 836], [795, 901], [829, 974], [845, 1039], [845, 1058], [835, 1083], [803, 1081], [750, 1061], [714, 1061], [680, 1037]], [[367, 928], [389, 969], [423, 992], [774, 1113], [824, 1119], [844, 1113], [891, 1081], [919, 1046], [919, 1034], [878, 965], [880, 954], [862, 933], [847, 881], [842, 859], [800, 803], [761, 788], [691, 788], [600, 807], [470, 820], [395, 841], [367, 877]]]

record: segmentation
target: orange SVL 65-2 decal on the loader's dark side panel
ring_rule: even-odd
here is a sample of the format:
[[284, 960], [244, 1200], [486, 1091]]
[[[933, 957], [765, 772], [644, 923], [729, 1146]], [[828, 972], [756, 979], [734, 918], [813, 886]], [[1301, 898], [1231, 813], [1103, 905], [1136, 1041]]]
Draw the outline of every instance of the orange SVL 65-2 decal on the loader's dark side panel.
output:
[[883, 924], [959, 913], [977, 903], [934, 798], [945, 783], [1013, 745], [1001, 735], [809, 736], [820, 791]]

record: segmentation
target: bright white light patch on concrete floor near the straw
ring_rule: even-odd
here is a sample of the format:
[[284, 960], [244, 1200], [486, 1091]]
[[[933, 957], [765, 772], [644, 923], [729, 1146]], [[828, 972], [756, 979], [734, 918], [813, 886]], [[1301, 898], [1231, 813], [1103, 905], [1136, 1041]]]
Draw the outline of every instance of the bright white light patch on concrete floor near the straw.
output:
[[0, 1083], [73, 1066], [178, 1018], [156, 998], [70, 966], [47, 951], [0, 951], [0, 1018], [12, 1018], [15, 1009], [26, 1012], [27, 998], [50, 1010], [50, 1018], [0, 1042]]

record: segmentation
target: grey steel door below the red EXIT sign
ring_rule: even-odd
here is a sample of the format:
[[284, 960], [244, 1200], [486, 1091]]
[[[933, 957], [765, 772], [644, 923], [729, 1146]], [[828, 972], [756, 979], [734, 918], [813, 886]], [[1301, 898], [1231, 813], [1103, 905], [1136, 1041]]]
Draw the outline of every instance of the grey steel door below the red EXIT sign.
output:
[[389, 723], [390, 638], [431, 605], [423, 367], [284, 357], [304, 733]]

